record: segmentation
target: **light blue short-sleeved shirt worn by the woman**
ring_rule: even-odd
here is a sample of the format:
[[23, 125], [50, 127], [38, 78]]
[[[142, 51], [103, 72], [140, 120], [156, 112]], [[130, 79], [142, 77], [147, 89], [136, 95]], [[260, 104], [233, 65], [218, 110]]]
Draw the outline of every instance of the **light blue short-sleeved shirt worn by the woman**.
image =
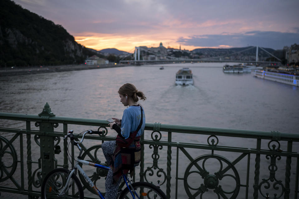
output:
[[[140, 136], [144, 132], [145, 127], [145, 113], [142, 108], [143, 118], [142, 118], [142, 125], [140, 130], [137, 132], [137, 136]], [[130, 106], [124, 110], [124, 114], [122, 115], [121, 119], [121, 135], [127, 139], [130, 136], [130, 133], [133, 133], [137, 130], [137, 127], [140, 124], [141, 120], [141, 110], [139, 106]]]

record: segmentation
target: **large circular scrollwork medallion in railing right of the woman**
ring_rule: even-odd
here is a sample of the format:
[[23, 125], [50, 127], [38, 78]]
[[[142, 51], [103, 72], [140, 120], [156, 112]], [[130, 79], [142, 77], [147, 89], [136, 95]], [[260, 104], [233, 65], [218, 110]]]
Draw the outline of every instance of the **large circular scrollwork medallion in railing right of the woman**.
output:
[[[214, 174], [210, 174], [206, 170], [206, 168], [209, 168], [208, 166], [205, 166], [206, 160], [210, 159], [216, 159], [220, 164], [219, 170]], [[198, 164], [201, 161], [202, 167]], [[225, 168], [223, 163], [227, 164]], [[188, 178], [193, 174], [200, 175], [203, 178], [203, 183], [199, 185], [199, 178], [196, 178], [198, 185], [192, 184], [191, 186], [188, 183]], [[225, 188], [222, 188], [223, 186], [221, 185], [225, 184], [225, 177], [230, 177], [235, 181], [233, 190], [225, 191]], [[228, 159], [220, 155], [206, 154], [197, 157], [187, 166], [184, 174], [184, 187], [189, 198], [195, 198], [198, 195], [200, 195], [200, 198], [203, 198], [203, 194], [208, 192], [209, 189], [213, 189], [218, 198], [227, 198], [226, 194], [232, 194], [230, 195], [230, 198], [236, 198], [240, 191], [240, 177], [236, 168]]]

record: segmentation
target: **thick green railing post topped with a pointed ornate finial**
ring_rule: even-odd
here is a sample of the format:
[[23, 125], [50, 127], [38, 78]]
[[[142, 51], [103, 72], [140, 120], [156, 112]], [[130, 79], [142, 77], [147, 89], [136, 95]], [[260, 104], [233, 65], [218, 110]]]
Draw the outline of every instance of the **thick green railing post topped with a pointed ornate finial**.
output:
[[43, 111], [38, 114], [41, 117], [42, 122], [40, 122], [40, 159], [41, 159], [41, 172], [42, 181], [44, 181], [45, 176], [53, 169], [55, 169], [55, 155], [54, 155], [54, 138], [49, 136], [49, 133], [54, 132], [54, 125], [49, 122], [50, 117], [54, 117], [55, 114], [51, 112], [48, 102], [45, 104]]

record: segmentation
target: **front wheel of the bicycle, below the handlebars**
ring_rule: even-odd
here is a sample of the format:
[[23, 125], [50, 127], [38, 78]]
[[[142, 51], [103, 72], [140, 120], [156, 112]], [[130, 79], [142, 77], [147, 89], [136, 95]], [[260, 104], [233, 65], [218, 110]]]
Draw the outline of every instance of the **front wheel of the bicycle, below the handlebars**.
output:
[[72, 175], [72, 185], [69, 186], [69, 189], [73, 194], [63, 194], [59, 196], [59, 191], [63, 189], [67, 178], [69, 176], [69, 170], [65, 168], [56, 168], [50, 171], [42, 184], [41, 187], [41, 198], [50, 199], [50, 198], [76, 198], [83, 199], [84, 192], [82, 185], [75, 174]]

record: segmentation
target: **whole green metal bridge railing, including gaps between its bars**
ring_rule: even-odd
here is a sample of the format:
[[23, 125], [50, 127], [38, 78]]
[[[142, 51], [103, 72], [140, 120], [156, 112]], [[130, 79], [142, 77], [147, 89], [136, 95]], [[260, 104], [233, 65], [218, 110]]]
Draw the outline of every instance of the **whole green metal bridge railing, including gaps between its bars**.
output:
[[[0, 128], [0, 194], [38, 198], [48, 172], [57, 167], [70, 169], [74, 160], [68, 161], [68, 149], [61, 141], [70, 125], [96, 126], [103, 132], [86, 136], [89, 143], [115, 140], [107, 136], [106, 120], [55, 116], [48, 103], [38, 115], [0, 113], [0, 119], [24, 121], [26, 126]], [[54, 131], [59, 124], [62, 130]], [[193, 136], [194, 141], [183, 142]], [[224, 140], [229, 145], [219, 144]], [[168, 198], [298, 198], [297, 134], [146, 123], [140, 141], [140, 169], [137, 167], [133, 180], [158, 182]], [[83, 158], [105, 164], [101, 144], [81, 147]], [[70, 148], [71, 156], [76, 157], [74, 147]], [[90, 172], [95, 184], [105, 181], [106, 171], [94, 168]], [[92, 191], [82, 179], [83, 188]]]

